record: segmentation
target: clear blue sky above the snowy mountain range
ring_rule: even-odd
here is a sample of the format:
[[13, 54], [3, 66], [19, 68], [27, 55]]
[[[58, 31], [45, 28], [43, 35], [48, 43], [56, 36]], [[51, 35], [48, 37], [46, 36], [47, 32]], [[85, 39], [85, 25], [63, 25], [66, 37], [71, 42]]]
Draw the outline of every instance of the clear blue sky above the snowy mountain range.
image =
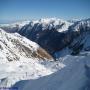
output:
[[0, 0], [0, 20], [90, 18], [90, 0]]

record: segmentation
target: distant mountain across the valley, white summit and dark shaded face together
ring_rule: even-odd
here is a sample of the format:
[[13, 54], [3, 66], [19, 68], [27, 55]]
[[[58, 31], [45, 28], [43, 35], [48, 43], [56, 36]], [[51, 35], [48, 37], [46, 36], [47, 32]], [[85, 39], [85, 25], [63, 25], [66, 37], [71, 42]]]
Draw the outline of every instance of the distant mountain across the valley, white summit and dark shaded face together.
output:
[[[55, 57], [55, 52], [61, 51], [65, 47], [69, 47], [72, 50], [71, 54], [76, 55], [84, 47], [82, 42], [87, 33], [90, 35], [90, 19], [73, 23], [59, 19], [40, 19], [31, 21], [16, 32], [38, 43], [53, 57]], [[80, 49], [80, 47], [82, 48]]]

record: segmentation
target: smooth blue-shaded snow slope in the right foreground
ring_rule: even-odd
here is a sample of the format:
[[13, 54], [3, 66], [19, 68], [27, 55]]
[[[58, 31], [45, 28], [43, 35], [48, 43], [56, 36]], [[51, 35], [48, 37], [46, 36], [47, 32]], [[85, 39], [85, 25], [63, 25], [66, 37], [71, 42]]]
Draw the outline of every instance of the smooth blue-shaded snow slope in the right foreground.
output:
[[19, 90], [90, 90], [90, 53], [87, 56], [63, 58], [66, 65], [54, 74], [36, 80], [20, 81], [14, 85]]

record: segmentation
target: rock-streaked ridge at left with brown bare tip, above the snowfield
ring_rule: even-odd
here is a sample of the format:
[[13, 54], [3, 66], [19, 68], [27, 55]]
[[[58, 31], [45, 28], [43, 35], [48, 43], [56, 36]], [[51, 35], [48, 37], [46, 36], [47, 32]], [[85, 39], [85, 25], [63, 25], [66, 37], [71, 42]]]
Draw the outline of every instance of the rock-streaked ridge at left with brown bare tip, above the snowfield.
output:
[[6, 33], [0, 29], [0, 58], [2, 61], [17, 61], [21, 57], [53, 60], [38, 44], [20, 36], [17, 33]]

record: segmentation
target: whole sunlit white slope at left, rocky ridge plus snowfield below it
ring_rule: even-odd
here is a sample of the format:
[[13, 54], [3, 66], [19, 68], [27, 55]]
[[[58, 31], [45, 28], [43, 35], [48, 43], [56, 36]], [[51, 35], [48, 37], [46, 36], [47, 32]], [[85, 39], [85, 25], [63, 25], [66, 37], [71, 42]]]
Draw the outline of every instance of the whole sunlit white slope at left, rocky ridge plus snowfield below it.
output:
[[0, 29], [0, 87], [49, 75], [63, 67], [35, 42]]

